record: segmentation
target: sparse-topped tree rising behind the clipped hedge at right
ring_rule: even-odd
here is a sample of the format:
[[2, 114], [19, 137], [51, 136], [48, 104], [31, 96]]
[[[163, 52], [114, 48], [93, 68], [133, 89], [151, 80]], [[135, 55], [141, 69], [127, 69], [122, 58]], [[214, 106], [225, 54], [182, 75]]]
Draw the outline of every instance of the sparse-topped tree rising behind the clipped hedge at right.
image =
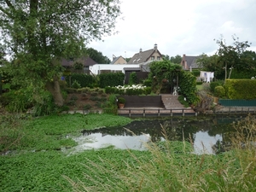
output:
[[232, 36], [234, 43], [233, 45], [227, 45], [223, 36], [219, 40], [216, 40], [219, 48], [217, 54], [219, 56], [219, 61], [224, 64], [225, 70], [225, 79], [227, 79], [227, 73], [230, 69], [230, 75], [232, 73], [232, 69], [234, 67], [239, 67], [241, 55], [243, 55], [244, 51], [250, 47], [250, 44], [247, 41], [239, 42], [239, 38], [235, 35]]

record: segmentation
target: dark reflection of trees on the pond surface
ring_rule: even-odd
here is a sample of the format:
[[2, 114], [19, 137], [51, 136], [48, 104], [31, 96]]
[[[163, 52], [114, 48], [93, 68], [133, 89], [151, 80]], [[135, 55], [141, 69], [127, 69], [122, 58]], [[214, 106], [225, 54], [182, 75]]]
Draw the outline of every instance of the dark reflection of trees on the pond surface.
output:
[[[216, 123], [216, 121], [215, 121]], [[133, 121], [129, 125], [119, 127], [102, 128], [92, 131], [83, 131], [83, 135], [87, 136], [93, 133], [102, 133], [102, 136], [133, 136], [149, 134], [153, 142], [160, 141], [163, 137], [170, 141], [190, 141], [194, 143], [195, 133], [198, 131], [207, 131], [209, 136], [222, 135], [224, 140], [228, 140], [228, 134], [232, 127], [227, 124], [216, 125], [212, 119], [154, 119]]]

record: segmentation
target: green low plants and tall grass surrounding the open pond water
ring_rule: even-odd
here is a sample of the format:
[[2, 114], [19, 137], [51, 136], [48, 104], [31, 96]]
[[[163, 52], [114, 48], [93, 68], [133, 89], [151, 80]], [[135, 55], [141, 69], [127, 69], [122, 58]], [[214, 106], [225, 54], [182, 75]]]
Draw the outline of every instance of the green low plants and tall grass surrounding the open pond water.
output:
[[[104, 114], [105, 115], [105, 114]], [[147, 151], [109, 148], [66, 154], [84, 129], [125, 125], [130, 119], [65, 114], [1, 123], [1, 191], [255, 191], [256, 120], [236, 125], [232, 150], [193, 154], [191, 143], [144, 143]], [[11, 142], [10, 142], [11, 141]], [[242, 143], [242, 145], [241, 145]]]

